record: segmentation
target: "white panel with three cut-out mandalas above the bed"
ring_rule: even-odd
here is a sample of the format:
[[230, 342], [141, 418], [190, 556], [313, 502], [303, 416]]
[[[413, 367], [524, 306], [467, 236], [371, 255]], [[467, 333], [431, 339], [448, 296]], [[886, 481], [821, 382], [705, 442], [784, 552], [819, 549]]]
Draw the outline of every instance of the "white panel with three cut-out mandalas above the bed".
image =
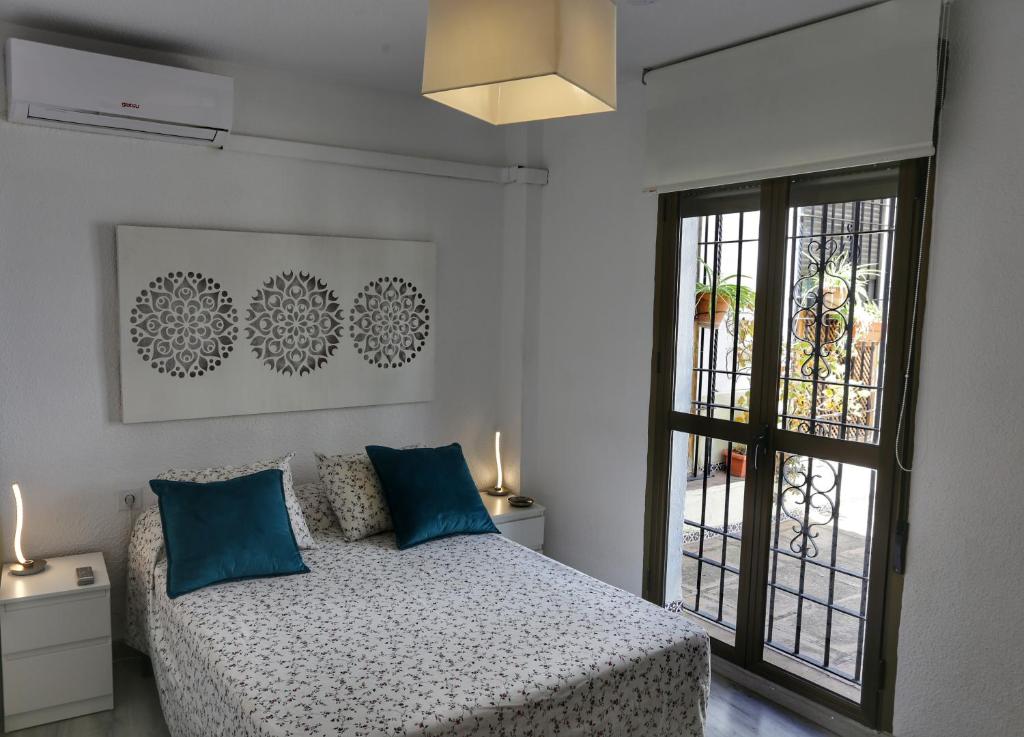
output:
[[432, 398], [433, 244], [119, 226], [117, 250], [126, 423]]

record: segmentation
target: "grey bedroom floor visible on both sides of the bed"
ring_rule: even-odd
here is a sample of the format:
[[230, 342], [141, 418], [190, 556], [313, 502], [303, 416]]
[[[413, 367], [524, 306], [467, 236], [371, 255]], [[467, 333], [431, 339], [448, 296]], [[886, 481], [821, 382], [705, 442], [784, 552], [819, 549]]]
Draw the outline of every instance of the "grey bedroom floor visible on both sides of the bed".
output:
[[[114, 663], [113, 711], [42, 725], [18, 737], [169, 737], [148, 662], [120, 653]], [[785, 709], [715, 677], [706, 737], [830, 737]]]

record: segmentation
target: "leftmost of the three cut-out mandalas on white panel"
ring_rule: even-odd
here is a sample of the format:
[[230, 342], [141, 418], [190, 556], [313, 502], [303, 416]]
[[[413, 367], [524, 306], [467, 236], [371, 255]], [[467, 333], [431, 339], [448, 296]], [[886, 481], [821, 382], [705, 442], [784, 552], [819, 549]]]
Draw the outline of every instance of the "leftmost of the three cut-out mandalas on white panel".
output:
[[196, 271], [172, 271], [151, 281], [135, 298], [129, 319], [129, 336], [142, 359], [180, 379], [219, 366], [239, 336], [230, 296]]

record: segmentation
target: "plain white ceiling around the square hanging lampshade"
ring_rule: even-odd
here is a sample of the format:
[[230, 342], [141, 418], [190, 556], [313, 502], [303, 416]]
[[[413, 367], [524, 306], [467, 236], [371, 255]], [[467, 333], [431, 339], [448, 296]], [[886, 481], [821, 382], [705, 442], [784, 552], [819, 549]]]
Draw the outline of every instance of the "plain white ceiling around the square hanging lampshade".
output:
[[[620, 68], [688, 56], [866, 0], [618, 0]], [[427, 0], [2, 0], [0, 20], [417, 91]]]

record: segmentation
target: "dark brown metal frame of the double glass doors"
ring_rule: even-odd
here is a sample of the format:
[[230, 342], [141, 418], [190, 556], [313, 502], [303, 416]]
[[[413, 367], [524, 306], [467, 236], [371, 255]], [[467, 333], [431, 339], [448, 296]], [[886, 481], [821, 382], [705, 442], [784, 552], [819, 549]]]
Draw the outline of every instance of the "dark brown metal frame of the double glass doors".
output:
[[[745, 425], [676, 411], [674, 406], [676, 343], [678, 335], [679, 273], [682, 246], [682, 198], [685, 192], [659, 196], [657, 255], [654, 284], [654, 342], [651, 354], [648, 473], [645, 512], [643, 595], [666, 604], [669, 560], [669, 504], [674, 432], [749, 445], [752, 456], [744, 482], [743, 534], [740, 552], [739, 596], [734, 645], [712, 639], [712, 651], [780, 686], [811, 698], [833, 710], [872, 728], [889, 729], [895, 682], [896, 634], [905, 570], [909, 474], [895, 463], [895, 429], [904, 375], [910, 310], [908, 297], [915, 286], [919, 245], [924, 243], [918, 321], [924, 311], [924, 274], [927, 273], [928, 227], [922, 220], [927, 176], [926, 160], [899, 164], [897, 213], [893, 242], [891, 293], [887, 328], [888, 355], [884, 366], [879, 444], [816, 437], [777, 428], [778, 351], [784, 305], [786, 223], [791, 178], [757, 182], [760, 186], [760, 240], [755, 306], [755, 333], [750, 422]], [[922, 239], [922, 228], [925, 228]], [[920, 331], [914, 341], [920, 344]], [[919, 354], [914, 346], [914, 355]], [[909, 372], [906, 417], [913, 417], [916, 367]], [[763, 437], [762, 432], [765, 433]], [[907, 420], [902, 439], [905, 457], [912, 454], [912, 423]], [[758, 445], [759, 447], [755, 447]], [[869, 569], [867, 622], [864, 632], [860, 702], [856, 703], [764, 659], [764, 630], [768, 596], [769, 535], [775, 481], [776, 448], [840, 463], [866, 465], [877, 470], [876, 512]], [[760, 453], [760, 460], [759, 460]], [[757, 465], [759, 470], [751, 470]]]

